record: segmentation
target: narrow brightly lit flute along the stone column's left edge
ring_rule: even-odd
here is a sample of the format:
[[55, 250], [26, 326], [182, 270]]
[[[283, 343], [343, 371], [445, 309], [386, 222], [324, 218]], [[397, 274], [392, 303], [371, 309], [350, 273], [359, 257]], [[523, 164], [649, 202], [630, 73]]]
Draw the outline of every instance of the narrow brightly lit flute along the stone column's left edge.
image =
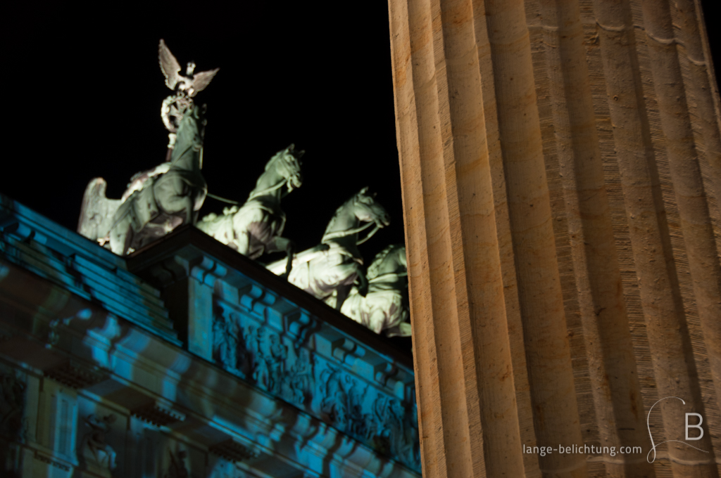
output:
[[[415, 6], [415, 8], [414, 8]], [[422, 132], [415, 85], [428, 81], [428, 56], [431, 45], [430, 14], [424, 16], [417, 4], [407, 1], [389, 1], [392, 73], [396, 134], [401, 166], [401, 188], [404, 210], [408, 264], [408, 294], [412, 324], [413, 361], [415, 367], [418, 433], [423, 474], [429, 477], [446, 477], [446, 457], [438, 413], [438, 359], [433, 341], [433, 315], [430, 309], [430, 276], [428, 271], [428, 233], [425, 230], [425, 205], [420, 155], [428, 145], [421, 145]], [[419, 71], [423, 64], [424, 71]], [[423, 101], [423, 98], [420, 98]], [[414, 211], [415, 212], [412, 212]], [[430, 317], [429, 317], [430, 315]]]

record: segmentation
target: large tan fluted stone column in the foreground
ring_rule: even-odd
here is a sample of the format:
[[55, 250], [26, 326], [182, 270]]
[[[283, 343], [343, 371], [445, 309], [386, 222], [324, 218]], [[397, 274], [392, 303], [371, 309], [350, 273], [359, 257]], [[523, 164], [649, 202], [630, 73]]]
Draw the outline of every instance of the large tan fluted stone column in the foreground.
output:
[[[389, 15], [424, 477], [717, 477], [720, 105], [699, 6]], [[649, 415], [665, 397], [684, 402]], [[679, 442], [686, 412], [702, 451]], [[649, 454], [649, 433], [678, 441]], [[583, 444], [605, 450], [558, 453]]]

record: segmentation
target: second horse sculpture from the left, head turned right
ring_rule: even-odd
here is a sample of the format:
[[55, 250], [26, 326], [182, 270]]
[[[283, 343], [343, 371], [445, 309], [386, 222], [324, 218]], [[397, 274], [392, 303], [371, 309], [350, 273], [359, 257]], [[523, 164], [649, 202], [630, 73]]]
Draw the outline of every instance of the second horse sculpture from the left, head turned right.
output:
[[195, 226], [252, 259], [263, 253], [286, 251], [284, 276], [287, 277], [295, 245], [290, 239], [280, 237], [286, 225], [286, 213], [280, 209], [280, 199], [301, 186], [303, 178], [298, 160], [303, 153], [296, 151], [295, 145], [278, 151], [265, 165], [265, 172], [242, 207], [226, 207], [223, 215], [207, 215]]

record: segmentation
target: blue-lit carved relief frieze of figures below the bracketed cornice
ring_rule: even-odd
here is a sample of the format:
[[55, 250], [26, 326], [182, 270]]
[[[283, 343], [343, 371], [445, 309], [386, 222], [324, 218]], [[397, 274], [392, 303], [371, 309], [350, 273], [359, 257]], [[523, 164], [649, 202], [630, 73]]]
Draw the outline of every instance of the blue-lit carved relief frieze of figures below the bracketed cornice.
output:
[[226, 370], [384, 454], [420, 467], [415, 404], [412, 398], [394, 396], [396, 366], [378, 364], [362, 379], [346, 368], [366, 354], [350, 338], [332, 341], [321, 357], [309, 349], [306, 334], [298, 335], [293, 327], [300, 317], [288, 320], [286, 334], [231, 312], [226, 303], [215, 310], [213, 358]]

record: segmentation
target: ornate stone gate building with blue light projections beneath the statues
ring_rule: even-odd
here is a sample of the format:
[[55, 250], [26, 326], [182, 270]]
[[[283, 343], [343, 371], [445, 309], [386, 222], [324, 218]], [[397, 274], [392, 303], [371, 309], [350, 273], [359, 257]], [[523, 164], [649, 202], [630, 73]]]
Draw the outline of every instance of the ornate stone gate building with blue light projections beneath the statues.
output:
[[412, 358], [193, 227], [0, 196], [0, 385], [7, 477], [420, 477]]

